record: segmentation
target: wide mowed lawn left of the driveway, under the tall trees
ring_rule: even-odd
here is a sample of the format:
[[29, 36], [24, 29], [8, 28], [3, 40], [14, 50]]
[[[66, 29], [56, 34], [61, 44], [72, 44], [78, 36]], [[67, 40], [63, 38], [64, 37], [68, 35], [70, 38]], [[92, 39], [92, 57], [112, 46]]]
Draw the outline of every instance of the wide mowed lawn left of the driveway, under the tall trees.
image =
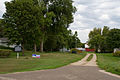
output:
[[32, 52], [25, 52], [25, 56], [16, 59], [16, 53], [10, 58], [0, 58], [0, 74], [11, 72], [23, 72], [43, 69], [54, 69], [68, 65], [82, 59], [86, 54], [71, 53], [37, 53], [40, 59], [32, 58]]

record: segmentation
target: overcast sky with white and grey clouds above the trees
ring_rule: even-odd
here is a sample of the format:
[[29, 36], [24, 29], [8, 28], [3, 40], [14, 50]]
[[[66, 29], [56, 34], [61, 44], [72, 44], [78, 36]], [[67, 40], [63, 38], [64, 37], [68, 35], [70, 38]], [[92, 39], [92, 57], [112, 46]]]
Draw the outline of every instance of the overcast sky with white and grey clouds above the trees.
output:
[[[0, 0], [0, 17], [5, 12], [4, 2]], [[70, 29], [78, 32], [81, 42], [88, 40], [88, 34], [94, 27], [109, 26], [120, 28], [120, 0], [73, 0], [77, 12]]]

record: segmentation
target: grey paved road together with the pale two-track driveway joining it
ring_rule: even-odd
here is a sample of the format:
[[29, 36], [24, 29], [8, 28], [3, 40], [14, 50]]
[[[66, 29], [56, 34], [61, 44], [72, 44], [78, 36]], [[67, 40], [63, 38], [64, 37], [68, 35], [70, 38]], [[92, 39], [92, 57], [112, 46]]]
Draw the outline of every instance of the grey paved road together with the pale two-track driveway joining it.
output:
[[99, 71], [96, 55], [90, 62], [86, 61], [88, 57], [57, 69], [0, 74], [0, 80], [120, 80]]

